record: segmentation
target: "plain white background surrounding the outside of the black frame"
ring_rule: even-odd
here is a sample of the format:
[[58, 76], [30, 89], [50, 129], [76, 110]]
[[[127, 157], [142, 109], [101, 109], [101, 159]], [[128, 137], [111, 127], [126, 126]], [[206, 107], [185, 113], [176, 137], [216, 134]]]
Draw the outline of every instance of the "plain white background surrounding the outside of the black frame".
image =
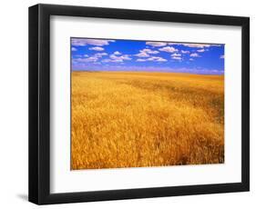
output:
[[[0, 207], [35, 208], [27, 202], [27, 7], [37, 1], [9, 0], [1, 2], [0, 10]], [[255, 5], [252, 0], [51, 0], [47, 4], [88, 5], [129, 9], [214, 15], [245, 15], [251, 17], [251, 192], [237, 194], [208, 194], [183, 197], [111, 201], [87, 204], [63, 204], [62, 208], [252, 208], [256, 203], [256, 74]], [[186, 176], [180, 176], [186, 178]], [[45, 207], [45, 206], [44, 206]], [[51, 205], [58, 208], [60, 205]]]

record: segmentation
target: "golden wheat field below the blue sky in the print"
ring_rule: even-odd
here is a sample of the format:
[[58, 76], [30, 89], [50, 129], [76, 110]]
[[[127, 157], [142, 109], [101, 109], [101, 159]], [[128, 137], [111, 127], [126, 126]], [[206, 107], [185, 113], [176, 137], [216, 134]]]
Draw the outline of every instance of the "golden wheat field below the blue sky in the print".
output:
[[221, 164], [224, 76], [72, 72], [71, 169]]

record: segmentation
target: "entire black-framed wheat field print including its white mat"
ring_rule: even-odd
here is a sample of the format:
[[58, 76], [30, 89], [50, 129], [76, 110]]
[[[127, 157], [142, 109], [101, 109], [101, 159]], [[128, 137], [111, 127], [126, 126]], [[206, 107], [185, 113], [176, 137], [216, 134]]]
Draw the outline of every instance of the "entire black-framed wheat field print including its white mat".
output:
[[29, 201], [250, 188], [249, 17], [29, 8]]

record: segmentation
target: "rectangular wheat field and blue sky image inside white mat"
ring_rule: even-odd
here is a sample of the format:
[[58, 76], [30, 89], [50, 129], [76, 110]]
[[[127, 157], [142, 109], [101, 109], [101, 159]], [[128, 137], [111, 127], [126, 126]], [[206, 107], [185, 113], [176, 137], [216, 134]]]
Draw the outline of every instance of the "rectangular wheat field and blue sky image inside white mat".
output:
[[71, 170], [223, 164], [224, 48], [71, 37]]

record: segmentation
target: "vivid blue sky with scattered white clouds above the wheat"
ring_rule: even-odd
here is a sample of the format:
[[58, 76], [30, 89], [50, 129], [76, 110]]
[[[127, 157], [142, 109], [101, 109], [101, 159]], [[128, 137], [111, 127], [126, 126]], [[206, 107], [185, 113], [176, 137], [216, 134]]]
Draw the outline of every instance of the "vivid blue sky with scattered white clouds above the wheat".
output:
[[72, 70], [224, 74], [224, 45], [71, 38]]

